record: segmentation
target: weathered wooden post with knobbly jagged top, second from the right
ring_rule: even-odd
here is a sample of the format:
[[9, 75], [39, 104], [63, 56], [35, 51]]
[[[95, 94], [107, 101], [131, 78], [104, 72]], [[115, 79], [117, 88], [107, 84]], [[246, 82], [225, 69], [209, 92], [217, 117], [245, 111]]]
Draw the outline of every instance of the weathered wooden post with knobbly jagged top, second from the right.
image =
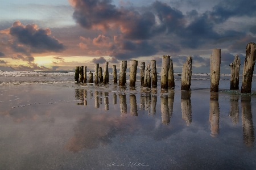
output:
[[230, 78], [230, 90], [239, 89], [239, 70], [240, 70], [240, 58], [235, 56], [234, 61], [230, 63], [231, 78]]

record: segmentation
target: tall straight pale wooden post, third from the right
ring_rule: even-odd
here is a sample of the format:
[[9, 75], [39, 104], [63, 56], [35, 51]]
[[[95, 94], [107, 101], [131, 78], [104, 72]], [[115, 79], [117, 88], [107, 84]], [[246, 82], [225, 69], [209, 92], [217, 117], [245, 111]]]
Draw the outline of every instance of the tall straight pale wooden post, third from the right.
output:
[[213, 49], [210, 55], [210, 92], [218, 92], [220, 82], [221, 49]]

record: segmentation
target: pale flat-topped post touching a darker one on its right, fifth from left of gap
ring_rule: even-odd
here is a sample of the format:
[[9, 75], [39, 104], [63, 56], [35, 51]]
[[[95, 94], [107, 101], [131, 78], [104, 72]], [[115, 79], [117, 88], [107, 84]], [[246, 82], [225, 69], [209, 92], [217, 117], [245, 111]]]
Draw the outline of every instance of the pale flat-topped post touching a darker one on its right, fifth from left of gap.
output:
[[168, 70], [170, 66], [170, 56], [163, 56], [161, 70], [161, 88], [168, 88]]

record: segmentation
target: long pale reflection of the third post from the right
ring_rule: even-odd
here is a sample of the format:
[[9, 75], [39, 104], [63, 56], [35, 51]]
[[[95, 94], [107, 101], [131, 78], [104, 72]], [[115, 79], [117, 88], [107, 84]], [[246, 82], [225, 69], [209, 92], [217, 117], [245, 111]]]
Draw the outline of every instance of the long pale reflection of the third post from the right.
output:
[[218, 93], [210, 93], [210, 111], [209, 111], [209, 122], [210, 130], [212, 131], [211, 136], [216, 137], [219, 133], [219, 120], [220, 120], [220, 107], [218, 104]]

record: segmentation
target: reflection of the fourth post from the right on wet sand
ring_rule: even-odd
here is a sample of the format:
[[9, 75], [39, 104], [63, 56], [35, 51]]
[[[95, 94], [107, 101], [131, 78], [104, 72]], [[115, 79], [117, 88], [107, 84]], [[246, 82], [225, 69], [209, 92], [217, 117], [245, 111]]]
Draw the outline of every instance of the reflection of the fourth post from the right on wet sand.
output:
[[191, 91], [181, 91], [181, 113], [182, 118], [189, 126], [192, 122]]

